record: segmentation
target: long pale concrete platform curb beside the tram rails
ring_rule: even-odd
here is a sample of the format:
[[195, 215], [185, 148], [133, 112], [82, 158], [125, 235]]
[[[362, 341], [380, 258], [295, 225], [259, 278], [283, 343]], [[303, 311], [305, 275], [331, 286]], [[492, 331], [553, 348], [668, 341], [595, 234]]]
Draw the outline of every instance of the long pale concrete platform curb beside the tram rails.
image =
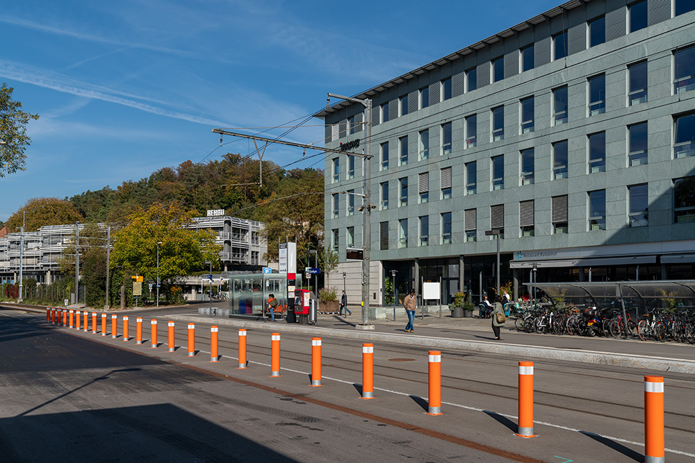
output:
[[343, 339], [382, 341], [391, 342], [394, 344], [407, 344], [409, 346], [460, 349], [464, 351], [514, 355], [516, 357], [546, 358], [551, 360], [614, 365], [616, 367], [639, 368], [653, 371], [670, 371], [673, 373], [695, 374], [695, 362], [691, 360], [679, 360], [666, 357], [626, 355], [598, 351], [574, 351], [563, 348], [525, 346], [521, 344], [501, 344], [498, 342], [486, 341], [461, 341], [459, 339], [424, 337], [418, 335], [389, 335], [386, 333], [373, 331], [336, 330], [333, 328], [321, 328], [320, 326], [293, 326], [286, 323], [259, 323], [255, 321], [213, 319], [208, 317], [190, 317], [186, 315], [172, 315], [169, 318], [179, 321], [193, 321], [195, 323], [215, 323], [218, 325], [228, 325], [237, 328], [253, 328], [254, 330], [296, 332], [306, 333], [314, 336], [321, 334]]

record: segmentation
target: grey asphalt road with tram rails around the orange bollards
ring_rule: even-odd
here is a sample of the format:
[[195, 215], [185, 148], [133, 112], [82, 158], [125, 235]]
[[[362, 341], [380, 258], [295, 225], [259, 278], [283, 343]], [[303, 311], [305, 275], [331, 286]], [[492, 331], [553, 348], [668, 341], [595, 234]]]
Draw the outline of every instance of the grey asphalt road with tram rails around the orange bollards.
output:
[[[268, 332], [249, 330], [250, 367], [238, 370], [236, 330], [220, 328], [211, 363], [209, 329], [186, 357], [177, 325], [184, 348], [167, 353], [165, 323], [152, 349], [147, 330], [136, 346], [0, 311], [3, 461], [635, 462], [644, 451], [651, 371], [443, 351], [444, 414], [428, 416], [423, 348], [375, 344], [376, 398], [363, 401], [359, 342], [324, 337], [324, 387], [311, 388], [308, 335], [282, 335], [282, 376], [270, 378]], [[514, 436], [518, 360], [536, 362], [533, 439]], [[695, 383], [662, 376], [667, 461], [693, 462]]]

